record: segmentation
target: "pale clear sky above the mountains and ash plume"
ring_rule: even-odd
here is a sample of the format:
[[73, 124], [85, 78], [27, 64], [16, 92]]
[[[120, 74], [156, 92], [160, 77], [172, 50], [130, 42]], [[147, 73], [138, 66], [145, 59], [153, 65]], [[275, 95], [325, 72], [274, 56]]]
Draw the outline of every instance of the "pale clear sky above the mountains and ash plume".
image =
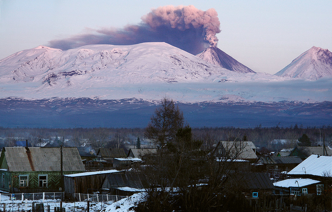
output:
[[0, 59], [91, 29], [137, 24], [165, 5], [214, 8], [218, 48], [256, 72], [274, 74], [312, 46], [332, 50], [330, 0], [0, 0]]

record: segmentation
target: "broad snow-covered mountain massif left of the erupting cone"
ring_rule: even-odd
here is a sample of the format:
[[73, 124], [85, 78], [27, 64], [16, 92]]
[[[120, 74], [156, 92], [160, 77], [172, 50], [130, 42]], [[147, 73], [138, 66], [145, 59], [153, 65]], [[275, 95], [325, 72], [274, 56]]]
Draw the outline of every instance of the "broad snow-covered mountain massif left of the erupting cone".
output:
[[230, 71], [167, 43], [88, 45], [67, 51], [39, 46], [0, 61], [1, 82], [49, 85], [213, 81], [225, 72]]

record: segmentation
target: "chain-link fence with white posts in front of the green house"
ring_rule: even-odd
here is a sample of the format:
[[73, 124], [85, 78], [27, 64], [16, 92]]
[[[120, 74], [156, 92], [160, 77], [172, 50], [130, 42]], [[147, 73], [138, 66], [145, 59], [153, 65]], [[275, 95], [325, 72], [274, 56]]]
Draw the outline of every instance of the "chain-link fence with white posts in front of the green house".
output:
[[43, 193], [7, 193], [0, 194], [0, 203], [29, 201], [60, 201], [63, 200], [64, 192], [43, 192]]

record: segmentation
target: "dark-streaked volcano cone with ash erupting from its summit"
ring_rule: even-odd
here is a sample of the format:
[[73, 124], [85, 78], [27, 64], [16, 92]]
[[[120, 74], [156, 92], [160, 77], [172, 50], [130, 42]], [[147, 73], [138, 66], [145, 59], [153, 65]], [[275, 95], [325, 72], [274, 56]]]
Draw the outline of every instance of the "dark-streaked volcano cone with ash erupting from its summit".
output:
[[231, 71], [240, 73], [256, 73], [255, 71], [239, 63], [237, 60], [221, 51], [216, 46], [209, 46], [196, 56], [211, 64], [218, 65]]

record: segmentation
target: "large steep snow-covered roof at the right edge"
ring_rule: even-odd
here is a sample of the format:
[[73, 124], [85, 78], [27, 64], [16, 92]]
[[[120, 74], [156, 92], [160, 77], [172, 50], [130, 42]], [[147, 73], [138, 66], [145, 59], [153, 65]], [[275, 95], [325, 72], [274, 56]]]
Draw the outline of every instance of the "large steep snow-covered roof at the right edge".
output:
[[312, 154], [288, 172], [289, 175], [316, 176], [324, 176], [324, 173], [332, 173], [332, 156], [319, 156]]

